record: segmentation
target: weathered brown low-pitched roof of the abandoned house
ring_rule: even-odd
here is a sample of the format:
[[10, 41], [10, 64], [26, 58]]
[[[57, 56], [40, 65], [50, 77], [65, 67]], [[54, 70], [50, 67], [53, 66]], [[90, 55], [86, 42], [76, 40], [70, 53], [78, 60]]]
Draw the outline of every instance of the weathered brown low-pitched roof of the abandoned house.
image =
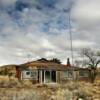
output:
[[49, 61], [32, 61], [21, 65], [22, 68], [32, 68], [32, 69], [39, 69], [39, 70], [90, 70], [89, 68], [79, 68], [79, 67], [72, 67], [67, 66], [64, 64], [58, 64], [55, 62]]

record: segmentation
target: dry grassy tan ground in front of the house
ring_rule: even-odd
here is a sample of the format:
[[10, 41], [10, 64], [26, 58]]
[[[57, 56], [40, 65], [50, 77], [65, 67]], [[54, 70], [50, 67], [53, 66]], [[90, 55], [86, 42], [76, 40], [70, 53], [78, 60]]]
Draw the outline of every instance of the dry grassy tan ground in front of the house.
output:
[[33, 85], [0, 76], [0, 100], [100, 100], [100, 80]]

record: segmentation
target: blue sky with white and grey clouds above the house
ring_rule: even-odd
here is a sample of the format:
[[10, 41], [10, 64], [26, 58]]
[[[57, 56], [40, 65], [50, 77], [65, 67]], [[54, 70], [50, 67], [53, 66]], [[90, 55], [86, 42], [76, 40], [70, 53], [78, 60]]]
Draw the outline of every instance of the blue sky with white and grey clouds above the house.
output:
[[74, 58], [82, 48], [99, 49], [100, 0], [0, 0], [0, 65], [41, 57], [66, 62], [71, 14]]

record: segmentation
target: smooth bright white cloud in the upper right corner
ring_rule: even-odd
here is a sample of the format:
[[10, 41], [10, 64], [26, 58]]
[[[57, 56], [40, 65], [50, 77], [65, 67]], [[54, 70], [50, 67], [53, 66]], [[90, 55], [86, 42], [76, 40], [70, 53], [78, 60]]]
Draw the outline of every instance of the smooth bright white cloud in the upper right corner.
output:
[[84, 26], [100, 23], [100, 0], [76, 0], [72, 17]]

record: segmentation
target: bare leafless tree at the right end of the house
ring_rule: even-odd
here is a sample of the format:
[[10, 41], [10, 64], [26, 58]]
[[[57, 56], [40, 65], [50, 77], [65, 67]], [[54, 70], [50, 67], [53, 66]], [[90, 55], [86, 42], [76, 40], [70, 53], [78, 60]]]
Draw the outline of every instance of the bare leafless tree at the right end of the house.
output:
[[100, 63], [100, 52], [85, 48], [82, 50], [82, 54], [87, 59], [87, 65], [91, 69], [91, 81], [94, 82], [97, 75], [97, 66]]

